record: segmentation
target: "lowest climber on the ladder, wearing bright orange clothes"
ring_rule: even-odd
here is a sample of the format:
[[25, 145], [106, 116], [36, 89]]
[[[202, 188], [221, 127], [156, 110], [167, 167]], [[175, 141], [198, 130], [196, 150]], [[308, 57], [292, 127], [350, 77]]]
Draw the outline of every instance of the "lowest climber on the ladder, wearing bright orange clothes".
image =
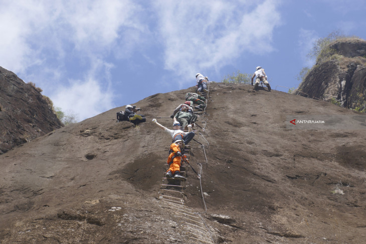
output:
[[182, 157], [181, 150], [185, 147], [185, 144], [182, 140], [175, 140], [169, 149], [169, 156], [166, 160], [167, 164], [169, 165], [169, 169], [166, 170], [165, 176], [167, 178], [182, 178], [185, 177], [180, 175], [180, 161]]

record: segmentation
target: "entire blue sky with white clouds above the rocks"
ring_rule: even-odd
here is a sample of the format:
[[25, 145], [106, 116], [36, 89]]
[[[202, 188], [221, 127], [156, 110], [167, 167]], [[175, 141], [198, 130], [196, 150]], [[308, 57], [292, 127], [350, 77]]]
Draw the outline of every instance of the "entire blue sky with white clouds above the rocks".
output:
[[363, 0], [0, 0], [0, 66], [81, 121], [194, 86], [196, 73], [220, 82], [262, 66], [272, 89], [297, 87], [318, 38], [366, 39], [365, 11]]

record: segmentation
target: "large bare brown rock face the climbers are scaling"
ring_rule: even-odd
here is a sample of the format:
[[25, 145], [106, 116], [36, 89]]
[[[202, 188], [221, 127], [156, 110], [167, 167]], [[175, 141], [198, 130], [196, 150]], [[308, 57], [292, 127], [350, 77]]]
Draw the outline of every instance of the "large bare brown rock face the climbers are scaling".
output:
[[[202, 178], [188, 172], [184, 198], [215, 243], [364, 243], [366, 133], [285, 125], [289, 114], [359, 113], [250, 85], [210, 89], [192, 141]], [[147, 122], [136, 128], [116, 123], [120, 107], [0, 155], [0, 241], [188, 243], [157, 200], [171, 141], [151, 120], [170, 127], [189, 91], [137, 102]]]

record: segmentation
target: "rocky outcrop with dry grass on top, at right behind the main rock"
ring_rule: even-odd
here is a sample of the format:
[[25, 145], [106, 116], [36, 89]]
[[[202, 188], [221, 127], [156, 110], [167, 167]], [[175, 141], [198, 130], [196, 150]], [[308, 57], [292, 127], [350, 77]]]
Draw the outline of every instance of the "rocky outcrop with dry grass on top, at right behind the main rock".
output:
[[366, 41], [341, 39], [329, 50], [328, 59], [314, 65], [296, 94], [366, 110]]

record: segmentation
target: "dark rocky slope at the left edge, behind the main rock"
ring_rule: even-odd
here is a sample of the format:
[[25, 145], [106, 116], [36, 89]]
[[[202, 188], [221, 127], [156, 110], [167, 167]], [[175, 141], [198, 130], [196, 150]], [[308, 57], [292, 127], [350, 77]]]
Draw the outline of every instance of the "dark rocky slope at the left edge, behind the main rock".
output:
[[62, 126], [35, 87], [0, 67], [0, 154]]

